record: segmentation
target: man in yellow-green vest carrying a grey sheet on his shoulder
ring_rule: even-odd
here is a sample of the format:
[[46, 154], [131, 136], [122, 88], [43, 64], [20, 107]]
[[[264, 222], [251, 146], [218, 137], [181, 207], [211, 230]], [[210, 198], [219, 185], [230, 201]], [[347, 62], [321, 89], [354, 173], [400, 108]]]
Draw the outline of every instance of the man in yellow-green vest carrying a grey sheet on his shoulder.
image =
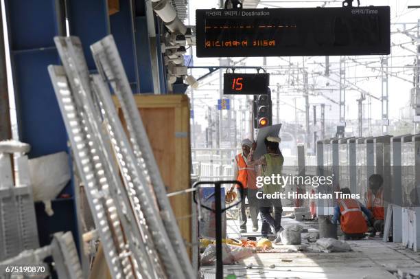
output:
[[[279, 149], [279, 143], [281, 139], [279, 137], [266, 137], [264, 143], [266, 144], [267, 154], [261, 156], [261, 158], [254, 160], [253, 159], [253, 150], [255, 150], [257, 144], [253, 145], [253, 150], [251, 150], [251, 155], [249, 165], [260, 166], [259, 176], [261, 177], [272, 177], [272, 175], [281, 175], [283, 169], [284, 158]], [[275, 192], [281, 192], [281, 185], [277, 183], [265, 183], [262, 187], [263, 194], [275, 194]], [[281, 241], [280, 233], [283, 231], [281, 227], [281, 214], [283, 213], [283, 207], [281, 206], [280, 199], [259, 199], [259, 212], [261, 214], [261, 219], [263, 221], [261, 227], [261, 236], [267, 238], [270, 233], [270, 228], [272, 232], [275, 232], [275, 243]], [[271, 212], [272, 211], [272, 214]], [[274, 215], [274, 218], [273, 216]]]

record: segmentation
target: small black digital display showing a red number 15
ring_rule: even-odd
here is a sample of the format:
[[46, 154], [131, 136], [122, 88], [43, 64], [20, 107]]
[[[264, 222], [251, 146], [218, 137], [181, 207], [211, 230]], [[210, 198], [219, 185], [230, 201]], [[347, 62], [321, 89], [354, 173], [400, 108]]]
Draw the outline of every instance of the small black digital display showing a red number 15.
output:
[[269, 74], [229, 74], [223, 76], [224, 95], [264, 95], [268, 93]]

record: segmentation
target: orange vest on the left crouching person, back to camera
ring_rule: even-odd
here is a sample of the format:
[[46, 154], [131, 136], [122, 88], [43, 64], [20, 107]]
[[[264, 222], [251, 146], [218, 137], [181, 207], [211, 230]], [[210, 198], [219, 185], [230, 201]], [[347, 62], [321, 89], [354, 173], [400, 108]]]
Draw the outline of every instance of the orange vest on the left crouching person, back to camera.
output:
[[368, 227], [364, 219], [362, 208], [355, 199], [340, 199], [340, 225], [346, 234], [364, 234]]

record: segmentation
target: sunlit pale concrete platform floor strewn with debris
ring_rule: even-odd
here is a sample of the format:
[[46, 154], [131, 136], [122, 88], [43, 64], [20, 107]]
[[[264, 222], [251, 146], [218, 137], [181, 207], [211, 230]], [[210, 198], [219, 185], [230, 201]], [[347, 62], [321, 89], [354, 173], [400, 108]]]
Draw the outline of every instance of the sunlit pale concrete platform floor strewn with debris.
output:
[[[248, 232], [251, 232], [250, 223], [248, 220]], [[288, 218], [282, 220], [283, 227], [293, 223], [300, 223], [309, 232], [316, 232], [307, 222], [301, 223]], [[238, 231], [237, 221], [228, 220], [228, 236], [237, 238]], [[302, 236], [305, 238], [305, 233]], [[237, 265], [225, 265], [224, 276], [235, 274], [237, 278], [388, 279], [397, 278], [398, 269], [420, 272], [420, 254], [398, 243], [384, 243], [378, 237], [348, 243], [353, 251], [347, 253], [297, 251], [309, 245], [305, 240], [302, 245], [274, 245], [275, 249], [254, 254]], [[246, 269], [251, 263], [253, 267]], [[270, 268], [270, 265], [275, 265], [275, 268]], [[215, 278], [215, 267], [202, 267], [201, 271], [204, 278]]]

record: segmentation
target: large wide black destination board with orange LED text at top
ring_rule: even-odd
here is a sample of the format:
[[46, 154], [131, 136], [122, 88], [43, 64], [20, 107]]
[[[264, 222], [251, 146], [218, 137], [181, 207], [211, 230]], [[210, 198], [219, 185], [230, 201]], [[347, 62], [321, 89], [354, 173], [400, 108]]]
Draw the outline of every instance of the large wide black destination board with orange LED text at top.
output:
[[390, 54], [390, 8], [196, 10], [198, 57]]

